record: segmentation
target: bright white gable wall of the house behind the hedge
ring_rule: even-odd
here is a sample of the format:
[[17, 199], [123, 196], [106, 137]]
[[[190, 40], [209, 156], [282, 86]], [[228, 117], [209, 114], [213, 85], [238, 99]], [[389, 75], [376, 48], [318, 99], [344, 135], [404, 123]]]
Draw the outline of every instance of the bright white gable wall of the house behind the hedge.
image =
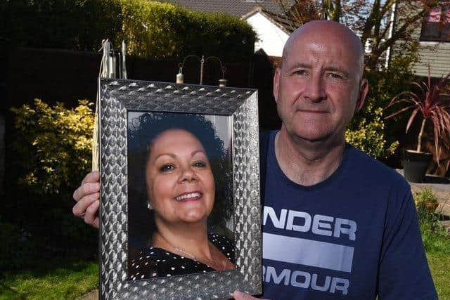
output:
[[281, 57], [283, 46], [288, 40], [288, 34], [267, 19], [262, 13], [255, 13], [246, 20], [257, 33], [259, 41], [255, 43], [255, 52], [260, 48], [268, 56]]

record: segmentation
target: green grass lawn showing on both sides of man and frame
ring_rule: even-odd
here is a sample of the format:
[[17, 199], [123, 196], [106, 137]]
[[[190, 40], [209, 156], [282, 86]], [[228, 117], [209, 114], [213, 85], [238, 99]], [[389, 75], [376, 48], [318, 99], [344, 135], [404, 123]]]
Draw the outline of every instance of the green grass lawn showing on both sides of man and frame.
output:
[[[420, 227], [439, 299], [450, 300], [450, 236]], [[0, 300], [76, 299], [98, 286], [96, 261], [39, 261], [30, 270], [1, 275]]]

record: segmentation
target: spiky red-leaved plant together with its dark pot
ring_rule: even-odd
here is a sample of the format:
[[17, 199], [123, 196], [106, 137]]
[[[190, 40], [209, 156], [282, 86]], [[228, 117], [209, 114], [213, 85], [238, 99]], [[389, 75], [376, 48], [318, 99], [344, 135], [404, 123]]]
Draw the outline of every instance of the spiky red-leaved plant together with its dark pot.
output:
[[441, 77], [437, 82], [433, 83], [430, 74], [430, 65], [428, 65], [428, 80], [422, 82], [413, 82], [420, 90], [420, 94], [412, 91], [404, 91], [395, 96], [387, 107], [397, 105], [397, 103], [405, 104], [386, 117], [386, 119], [399, 115], [402, 112], [409, 111], [410, 117], [406, 124], [406, 133], [416, 117], [422, 118], [420, 131], [417, 138], [416, 150], [406, 150], [404, 153], [404, 176], [408, 181], [421, 182], [425, 178], [428, 164], [432, 159], [432, 154], [422, 151], [423, 131], [426, 122], [430, 122], [433, 128], [433, 136], [435, 141], [435, 151], [437, 164], [439, 164], [439, 143], [442, 136], [450, 136], [450, 100], [449, 88], [447, 86], [446, 77]]

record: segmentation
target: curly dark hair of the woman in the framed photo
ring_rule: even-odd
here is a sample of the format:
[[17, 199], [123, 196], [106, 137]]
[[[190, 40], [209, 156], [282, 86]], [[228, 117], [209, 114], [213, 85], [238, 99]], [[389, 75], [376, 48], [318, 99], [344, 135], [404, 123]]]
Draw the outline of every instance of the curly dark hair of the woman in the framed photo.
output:
[[[214, 125], [202, 115], [185, 113], [147, 112], [128, 122], [128, 199], [129, 233], [141, 236], [148, 244], [148, 229], [153, 232], [154, 224], [146, 208], [146, 165], [150, 155], [151, 142], [169, 129], [183, 129], [193, 134], [205, 148], [210, 161], [216, 194], [209, 224], [223, 226], [233, 213], [230, 153], [224, 149], [224, 142], [217, 136]], [[150, 223], [148, 223], [150, 222]], [[140, 238], [140, 240], [144, 240]]]

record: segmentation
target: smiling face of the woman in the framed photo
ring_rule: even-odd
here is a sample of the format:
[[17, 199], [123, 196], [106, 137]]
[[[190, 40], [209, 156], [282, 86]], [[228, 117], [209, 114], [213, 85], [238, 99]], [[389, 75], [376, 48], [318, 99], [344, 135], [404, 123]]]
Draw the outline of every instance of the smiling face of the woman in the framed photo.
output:
[[203, 145], [170, 129], [153, 140], [146, 166], [149, 201], [166, 223], [205, 221], [214, 205], [214, 176]]

